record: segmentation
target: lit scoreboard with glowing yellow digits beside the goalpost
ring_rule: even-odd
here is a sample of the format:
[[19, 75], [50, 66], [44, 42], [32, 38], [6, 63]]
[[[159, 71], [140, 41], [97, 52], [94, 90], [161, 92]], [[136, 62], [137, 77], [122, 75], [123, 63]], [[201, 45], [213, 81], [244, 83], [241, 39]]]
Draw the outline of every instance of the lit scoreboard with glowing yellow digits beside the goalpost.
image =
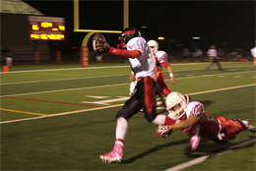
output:
[[29, 16], [31, 40], [65, 40], [65, 19]]

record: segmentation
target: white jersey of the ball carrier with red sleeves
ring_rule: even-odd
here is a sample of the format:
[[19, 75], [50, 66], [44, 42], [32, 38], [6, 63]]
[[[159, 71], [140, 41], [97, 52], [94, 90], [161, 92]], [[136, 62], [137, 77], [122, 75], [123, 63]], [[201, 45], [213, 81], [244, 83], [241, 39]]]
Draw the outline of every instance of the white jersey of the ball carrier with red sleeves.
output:
[[128, 50], [140, 50], [142, 55], [137, 58], [129, 58], [131, 69], [136, 80], [144, 77], [151, 77], [155, 80], [156, 62], [147, 41], [143, 37], [134, 37], [126, 45]]

